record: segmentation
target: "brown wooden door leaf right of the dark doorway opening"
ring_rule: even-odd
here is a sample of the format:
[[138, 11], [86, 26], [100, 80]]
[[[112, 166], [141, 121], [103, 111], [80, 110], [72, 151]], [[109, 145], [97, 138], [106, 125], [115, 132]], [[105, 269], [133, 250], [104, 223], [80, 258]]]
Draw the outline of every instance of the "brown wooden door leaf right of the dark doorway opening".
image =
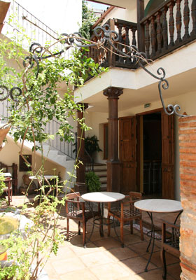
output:
[[174, 200], [174, 115], [162, 110], [162, 198]]

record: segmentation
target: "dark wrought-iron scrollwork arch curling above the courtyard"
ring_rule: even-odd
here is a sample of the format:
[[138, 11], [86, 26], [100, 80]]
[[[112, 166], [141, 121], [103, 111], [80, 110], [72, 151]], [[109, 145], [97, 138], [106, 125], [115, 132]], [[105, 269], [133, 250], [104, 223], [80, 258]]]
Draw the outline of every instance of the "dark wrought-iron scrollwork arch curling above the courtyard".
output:
[[[137, 64], [139, 67], [144, 69], [146, 73], [151, 75], [153, 78], [159, 80], [158, 90], [160, 94], [160, 100], [162, 102], [163, 109], [165, 113], [167, 113], [167, 115], [176, 114], [176, 116], [179, 117], [187, 116], [178, 113], [181, 110], [181, 107], [178, 104], [176, 105], [169, 104], [167, 107], [165, 106], [162, 97], [162, 89], [167, 90], [169, 88], [169, 82], [165, 78], [166, 76], [165, 69], [163, 69], [162, 67], [158, 68], [157, 70], [158, 75], [155, 75], [154, 73], [146, 69], [145, 65], [148, 64], [148, 59], [146, 59], [146, 54], [144, 52], [139, 52], [136, 45], [124, 45], [119, 43], [118, 32], [111, 30], [110, 26], [107, 24], [104, 25], [103, 27], [96, 27], [94, 29], [94, 36], [96, 36], [99, 39], [98, 42], [87, 40], [83, 38], [78, 32], [75, 32], [73, 34], [63, 33], [61, 34], [59, 40], [56, 43], [61, 42], [62, 45], [64, 46], [62, 47], [62, 50], [59, 50], [58, 52], [55, 53], [50, 52], [50, 48], [43, 47], [39, 43], [32, 43], [29, 48], [29, 52], [31, 53], [31, 55], [25, 57], [23, 66], [26, 69], [31, 69], [32, 67], [36, 67], [36, 78], [37, 78], [39, 72], [39, 62], [43, 59], [48, 59], [50, 57], [59, 57], [64, 52], [66, 52], [66, 50], [69, 50], [69, 48], [71, 47], [102, 48], [106, 50], [106, 52], [113, 52], [118, 56], [132, 59], [132, 61], [134, 61], [135, 64]], [[121, 47], [123, 45], [126, 52], [123, 52], [123, 50], [117, 48], [116, 45], [121, 45]], [[17, 93], [13, 94], [14, 92]], [[19, 87], [13, 87], [9, 91], [7, 87], [0, 85], [0, 101], [3, 101], [10, 96], [11, 99], [17, 102], [18, 101], [17, 97], [19, 97], [21, 94], [22, 94], [22, 90]]]

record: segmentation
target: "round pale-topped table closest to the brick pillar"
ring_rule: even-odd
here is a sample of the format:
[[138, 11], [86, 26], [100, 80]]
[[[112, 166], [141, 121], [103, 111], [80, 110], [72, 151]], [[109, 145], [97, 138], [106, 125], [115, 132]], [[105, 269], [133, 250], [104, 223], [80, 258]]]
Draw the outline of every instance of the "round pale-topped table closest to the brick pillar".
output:
[[155, 245], [155, 226], [153, 223], [153, 213], [176, 213], [179, 214], [176, 216], [174, 223], [176, 223], [177, 218], [182, 213], [183, 208], [181, 207], [181, 202], [176, 200], [162, 200], [162, 199], [152, 199], [152, 200], [139, 200], [134, 203], [134, 207], [141, 211], [146, 211], [148, 216], [151, 218], [151, 239], [149, 241], [146, 252], [148, 252], [148, 248], [151, 246], [151, 241], [153, 239], [153, 246], [151, 250], [151, 255], [148, 259], [145, 272], [148, 272], [148, 265], [151, 261], [151, 257], [153, 255], [153, 249]]

